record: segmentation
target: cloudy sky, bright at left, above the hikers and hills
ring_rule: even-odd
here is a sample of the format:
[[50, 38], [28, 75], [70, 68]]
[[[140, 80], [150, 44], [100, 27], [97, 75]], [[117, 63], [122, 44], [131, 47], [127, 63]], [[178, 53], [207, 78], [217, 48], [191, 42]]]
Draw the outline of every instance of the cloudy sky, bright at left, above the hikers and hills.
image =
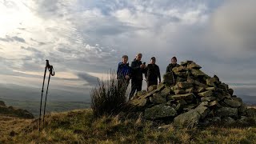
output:
[[192, 60], [206, 74], [256, 96], [255, 4], [0, 0], [0, 86], [39, 90], [49, 59], [56, 73], [50, 88], [90, 94], [96, 79], [116, 70], [123, 54], [131, 62], [142, 53], [143, 62], [157, 58], [162, 75], [176, 56], [178, 62]]

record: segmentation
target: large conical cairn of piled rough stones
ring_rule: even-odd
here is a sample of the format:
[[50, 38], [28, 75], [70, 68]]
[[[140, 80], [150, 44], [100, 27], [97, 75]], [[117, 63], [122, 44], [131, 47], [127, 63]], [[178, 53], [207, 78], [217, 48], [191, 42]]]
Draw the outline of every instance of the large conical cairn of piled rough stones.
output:
[[[172, 73], [163, 76], [158, 86], [139, 91], [130, 104], [142, 111], [144, 118], [172, 122], [178, 127], [195, 127], [200, 124], [248, 122], [255, 116], [247, 109], [242, 98], [214, 75], [210, 77], [193, 61], [181, 62]], [[175, 77], [175, 78], [174, 78]]]

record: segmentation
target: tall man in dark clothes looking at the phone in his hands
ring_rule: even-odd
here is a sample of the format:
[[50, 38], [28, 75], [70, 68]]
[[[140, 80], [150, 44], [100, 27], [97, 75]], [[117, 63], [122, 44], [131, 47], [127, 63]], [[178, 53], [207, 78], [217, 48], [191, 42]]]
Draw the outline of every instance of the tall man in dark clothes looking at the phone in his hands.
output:
[[143, 80], [143, 73], [145, 73], [146, 65], [142, 64], [142, 54], [137, 54], [136, 58], [133, 62], [131, 62], [131, 70], [132, 70], [132, 77], [131, 77], [131, 91], [130, 91], [130, 98], [134, 96], [134, 93], [137, 91], [142, 90], [142, 80]]

